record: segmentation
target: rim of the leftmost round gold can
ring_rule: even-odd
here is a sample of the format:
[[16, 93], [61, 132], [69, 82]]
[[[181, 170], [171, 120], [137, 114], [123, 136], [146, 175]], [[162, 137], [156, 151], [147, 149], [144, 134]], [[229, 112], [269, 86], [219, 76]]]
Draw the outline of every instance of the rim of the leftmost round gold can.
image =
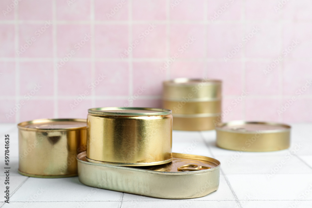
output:
[[[28, 124], [33, 123], [53, 123], [57, 121], [76, 121], [76, 122], [82, 122], [85, 123], [85, 126], [83, 127], [68, 127], [68, 128], [29, 128], [25, 127]], [[32, 130], [32, 131], [60, 131], [60, 130], [76, 130], [76, 129], [83, 129], [87, 128], [87, 119], [34, 119], [30, 121], [24, 121], [17, 124], [17, 128], [23, 129], [23, 130]]]

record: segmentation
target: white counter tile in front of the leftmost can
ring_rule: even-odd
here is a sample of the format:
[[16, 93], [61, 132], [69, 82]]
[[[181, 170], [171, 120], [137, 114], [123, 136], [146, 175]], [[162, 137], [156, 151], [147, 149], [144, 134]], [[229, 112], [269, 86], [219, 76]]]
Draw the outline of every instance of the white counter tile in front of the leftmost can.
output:
[[29, 178], [11, 201], [119, 201], [121, 192], [85, 186], [78, 177]]

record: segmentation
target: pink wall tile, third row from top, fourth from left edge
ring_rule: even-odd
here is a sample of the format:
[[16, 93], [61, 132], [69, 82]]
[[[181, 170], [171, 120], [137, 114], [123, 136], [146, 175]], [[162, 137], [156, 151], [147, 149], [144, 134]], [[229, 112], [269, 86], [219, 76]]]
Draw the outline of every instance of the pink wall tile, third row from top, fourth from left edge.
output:
[[95, 80], [101, 80], [100, 75], [106, 77], [95, 85], [96, 95], [129, 94], [129, 64], [127, 62], [96, 62]]

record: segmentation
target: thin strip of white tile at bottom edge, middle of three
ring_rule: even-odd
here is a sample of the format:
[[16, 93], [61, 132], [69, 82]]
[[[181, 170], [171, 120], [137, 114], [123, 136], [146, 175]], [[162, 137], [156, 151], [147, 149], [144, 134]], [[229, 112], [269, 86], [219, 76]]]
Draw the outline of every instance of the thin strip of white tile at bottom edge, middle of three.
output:
[[146, 208], [146, 207], [170, 207], [170, 208], [207, 208], [219, 207], [228, 208], [235, 207], [235, 201], [124, 201], [122, 208]]

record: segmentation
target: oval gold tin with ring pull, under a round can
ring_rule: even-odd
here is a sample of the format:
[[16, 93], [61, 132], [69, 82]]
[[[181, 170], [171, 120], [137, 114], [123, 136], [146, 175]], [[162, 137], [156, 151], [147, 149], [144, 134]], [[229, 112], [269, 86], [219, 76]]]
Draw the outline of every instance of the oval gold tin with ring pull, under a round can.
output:
[[77, 156], [79, 181], [87, 186], [164, 199], [206, 196], [219, 187], [220, 162], [198, 155], [172, 153], [173, 161], [149, 167], [96, 164]]

